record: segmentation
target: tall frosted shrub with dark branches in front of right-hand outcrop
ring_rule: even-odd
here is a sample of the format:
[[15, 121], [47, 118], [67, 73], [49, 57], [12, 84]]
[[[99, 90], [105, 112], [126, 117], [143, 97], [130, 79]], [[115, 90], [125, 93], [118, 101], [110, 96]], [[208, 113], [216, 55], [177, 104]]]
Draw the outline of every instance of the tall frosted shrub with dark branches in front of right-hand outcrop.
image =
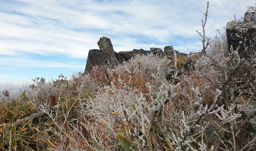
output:
[[[253, 49], [255, 39], [250, 41], [249, 45], [246, 45], [245, 35], [247, 29], [240, 27], [237, 27], [237, 29], [238, 33], [236, 36], [240, 41], [236, 49], [233, 47], [229, 49], [226, 34], [218, 32], [219, 36], [216, 36], [214, 39], [208, 39], [207, 53], [201, 56], [195, 65], [196, 70], [213, 87], [221, 90], [222, 101], [226, 108], [221, 111], [221, 116], [217, 115], [221, 122], [218, 123], [220, 130], [216, 132], [217, 139], [215, 139], [215, 143], [221, 143], [222, 147], [214, 145], [212, 150], [216, 150], [218, 147], [224, 150], [241, 150], [243, 148], [241, 146], [243, 142], [245, 144], [252, 144], [252, 142], [241, 140], [241, 121], [238, 119], [240, 116], [238, 116], [239, 113], [237, 113], [236, 104], [244, 95], [247, 100], [245, 106], [255, 97], [255, 94], [251, 93], [253, 87], [249, 86], [252, 84], [252, 80], [255, 79], [255, 50]], [[242, 50], [238, 53], [240, 48]], [[247, 56], [241, 58], [240, 54], [246, 54]], [[227, 119], [227, 122], [224, 119]], [[229, 128], [224, 128], [223, 124], [225, 123], [230, 125]], [[227, 140], [220, 138], [219, 135], [222, 133], [222, 129], [230, 133], [232, 138], [226, 138]], [[232, 147], [227, 146], [224, 143], [225, 141], [228, 141]]]

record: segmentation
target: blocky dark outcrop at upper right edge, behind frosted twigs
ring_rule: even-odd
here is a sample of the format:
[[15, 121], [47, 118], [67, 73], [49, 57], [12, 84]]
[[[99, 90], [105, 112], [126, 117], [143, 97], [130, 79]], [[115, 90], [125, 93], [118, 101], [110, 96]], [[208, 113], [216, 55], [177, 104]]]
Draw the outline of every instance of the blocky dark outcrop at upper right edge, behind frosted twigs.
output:
[[[245, 34], [245, 47], [250, 47], [250, 41], [253, 41], [253, 39], [256, 37], [256, 24], [255, 22], [249, 22], [249, 23], [236, 23], [234, 21], [227, 23], [227, 43], [229, 45], [229, 48], [231, 45], [233, 46], [233, 49], [236, 50], [236, 48], [239, 45], [239, 42], [241, 41], [242, 37], [238, 37], [237, 33], [239, 33], [239, 29], [248, 29], [248, 31]], [[244, 45], [240, 45], [240, 48], [238, 49], [238, 53], [241, 58], [248, 58], [248, 52], [245, 51]], [[256, 49], [256, 45], [254, 45], [253, 49]]]

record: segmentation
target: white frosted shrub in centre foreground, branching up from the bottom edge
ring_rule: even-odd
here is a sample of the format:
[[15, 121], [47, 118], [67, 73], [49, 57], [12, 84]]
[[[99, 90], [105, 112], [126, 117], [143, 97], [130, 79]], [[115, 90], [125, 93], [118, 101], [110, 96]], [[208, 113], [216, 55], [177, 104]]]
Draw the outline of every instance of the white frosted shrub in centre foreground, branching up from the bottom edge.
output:
[[[116, 129], [123, 127], [121, 123], [127, 123], [131, 129], [126, 133], [128, 137], [135, 137], [133, 141], [139, 148], [141, 144], [145, 146], [146, 139], [150, 140], [149, 133], [154, 122], [152, 118], [176, 95], [175, 86], [159, 75], [159, 68], [157, 72], [151, 75], [151, 82], [146, 84], [148, 94], [143, 94], [131, 82], [122, 79], [118, 79], [118, 86], [112, 82], [110, 86], [99, 88], [94, 98], [86, 103], [84, 114], [104, 124], [106, 127], [103, 131], [108, 132], [109, 136], [117, 136]], [[116, 126], [119, 120], [123, 122]]]

